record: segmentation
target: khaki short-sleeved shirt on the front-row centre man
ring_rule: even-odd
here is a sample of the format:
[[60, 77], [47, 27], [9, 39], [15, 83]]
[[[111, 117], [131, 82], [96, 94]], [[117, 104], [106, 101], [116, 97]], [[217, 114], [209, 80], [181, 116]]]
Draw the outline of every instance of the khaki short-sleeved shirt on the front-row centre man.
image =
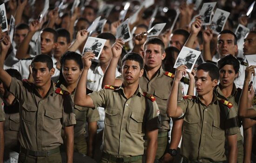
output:
[[95, 108], [105, 108], [103, 151], [117, 157], [143, 155], [145, 130], [161, 126], [156, 102], [144, 97], [140, 87], [129, 99], [123, 86], [94, 91], [89, 96]]

